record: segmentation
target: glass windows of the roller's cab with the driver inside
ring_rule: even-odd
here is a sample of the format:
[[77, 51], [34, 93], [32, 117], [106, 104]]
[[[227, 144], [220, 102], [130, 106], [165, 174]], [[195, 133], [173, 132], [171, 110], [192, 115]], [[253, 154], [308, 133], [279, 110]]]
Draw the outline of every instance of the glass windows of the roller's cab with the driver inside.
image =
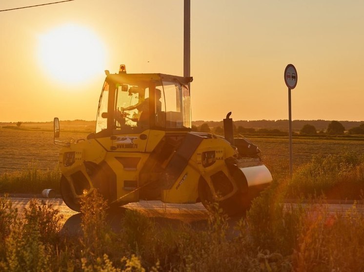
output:
[[108, 128], [113, 130], [113, 134], [139, 133], [149, 128], [190, 129], [188, 86], [178, 81], [159, 81], [159, 84], [154, 82], [148, 85], [118, 82], [114, 85], [105, 80], [99, 101], [96, 132]]

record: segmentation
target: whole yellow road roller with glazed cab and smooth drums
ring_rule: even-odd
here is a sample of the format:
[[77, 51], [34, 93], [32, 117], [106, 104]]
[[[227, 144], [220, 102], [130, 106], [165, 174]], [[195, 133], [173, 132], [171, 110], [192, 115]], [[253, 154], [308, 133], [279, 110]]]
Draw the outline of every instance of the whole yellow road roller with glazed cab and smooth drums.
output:
[[192, 77], [128, 74], [124, 65], [105, 73], [94, 133], [60, 141], [55, 118], [61, 194], [71, 209], [80, 211], [80, 199], [98, 189], [111, 206], [217, 201], [235, 215], [272, 181], [258, 147], [234, 139], [232, 121], [225, 137], [191, 131]]

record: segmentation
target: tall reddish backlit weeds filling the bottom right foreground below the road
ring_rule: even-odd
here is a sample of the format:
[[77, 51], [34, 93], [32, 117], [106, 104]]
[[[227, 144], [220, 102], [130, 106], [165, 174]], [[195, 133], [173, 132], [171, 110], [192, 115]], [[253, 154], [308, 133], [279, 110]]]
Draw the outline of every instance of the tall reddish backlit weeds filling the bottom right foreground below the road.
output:
[[[250, 247], [266, 255], [261, 258], [281, 255], [279, 263], [292, 271], [364, 271], [364, 216], [357, 203], [335, 213], [324, 198], [283, 205], [277, 201], [283, 192], [279, 187], [254, 199], [241, 224], [250, 234]], [[263, 271], [277, 271], [276, 265], [270, 263]]]

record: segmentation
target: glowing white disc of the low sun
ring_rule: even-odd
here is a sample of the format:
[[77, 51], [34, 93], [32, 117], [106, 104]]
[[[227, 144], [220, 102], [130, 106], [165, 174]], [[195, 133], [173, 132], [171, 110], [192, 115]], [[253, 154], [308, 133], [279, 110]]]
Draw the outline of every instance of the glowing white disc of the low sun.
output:
[[76, 24], [65, 24], [42, 34], [38, 54], [45, 72], [66, 84], [84, 82], [105, 67], [100, 38]]

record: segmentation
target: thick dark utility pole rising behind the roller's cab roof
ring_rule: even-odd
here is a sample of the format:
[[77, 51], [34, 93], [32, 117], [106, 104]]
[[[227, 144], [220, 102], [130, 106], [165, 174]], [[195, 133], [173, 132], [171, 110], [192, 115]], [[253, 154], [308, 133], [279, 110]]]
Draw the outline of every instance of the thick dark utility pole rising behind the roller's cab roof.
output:
[[[191, 19], [191, 2], [184, 0], [184, 28], [183, 28], [183, 76], [190, 76], [190, 24]], [[190, 84], [188, 83], [188, 89]]]

